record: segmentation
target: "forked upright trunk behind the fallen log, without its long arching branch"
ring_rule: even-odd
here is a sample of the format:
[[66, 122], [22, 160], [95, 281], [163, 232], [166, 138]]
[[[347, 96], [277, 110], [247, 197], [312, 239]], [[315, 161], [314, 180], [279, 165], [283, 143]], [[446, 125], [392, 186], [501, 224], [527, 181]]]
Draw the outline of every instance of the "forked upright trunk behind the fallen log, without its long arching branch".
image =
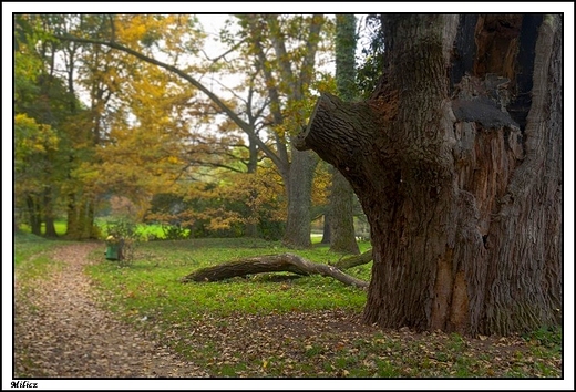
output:
[[[287, 34], [286, 31], [282, 31], [281, 18], [277, 14], [265, 14], [261, 17], [246, 16], [243, 19], [249, 25], [255, 53], [266, 80], [274, 124], [276, 126], [286, 124], [284, 110], [287, 104], [282, 103], [282, 99], [292, 103], [305, 99], [305, 93], [312, 81], [315, 58], [326, 19], [321, 14], [316, 14], [309, 20], [307, 30], [299, 32], [306, 34], [307, 38], [304, 52], [306, 54], [298, 65], [290, 60], [287, 48], [287, 37], [290, 33]], [[274, 48], [276, 59], [271, 62], [264, 50], [265, 40], [269, 40]], [[276, 73], [272, 72], [272, 69]], [[297, 115], [292, 115], [292, 122], [294, 118], [304, 117], [302, 114], [302, 111], [298, 110]], [[292, 126], [296, 128], [297, 125], [289, 125], [288, 130]], [[281, 173], [288, 199], [286, 231], [282, 241], [289, 247], [306, 248], [311, 246], [311, 189], [318, 157], [311, 152], [298, 152], [291, 148], [290, 159], [288, 159], [286, 142], [289, 140], [289, 135], [276, 134], [275, 136], [277, 141], [277, 152], [274, 154], [276, 159], [271, 158]]]

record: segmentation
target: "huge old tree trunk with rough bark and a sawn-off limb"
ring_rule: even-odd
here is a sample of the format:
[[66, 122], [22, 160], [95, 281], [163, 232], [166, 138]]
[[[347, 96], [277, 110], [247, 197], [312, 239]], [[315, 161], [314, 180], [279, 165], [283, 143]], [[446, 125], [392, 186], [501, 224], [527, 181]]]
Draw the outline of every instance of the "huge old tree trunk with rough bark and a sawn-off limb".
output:
[[364, 322], [466, 334], [559, 323], [560, 18], [382, 20], [372, 99], [323, 95], [296, 141], [347, 177], [370, 221]]

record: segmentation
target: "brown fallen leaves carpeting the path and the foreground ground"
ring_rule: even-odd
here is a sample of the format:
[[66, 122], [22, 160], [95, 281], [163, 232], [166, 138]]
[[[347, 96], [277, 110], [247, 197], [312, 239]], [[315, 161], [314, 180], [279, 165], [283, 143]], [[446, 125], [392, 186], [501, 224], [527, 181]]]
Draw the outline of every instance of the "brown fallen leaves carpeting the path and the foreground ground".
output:
[[[562, 353], [538, 340], [381, 331], [342, 310], [160, 314], [117, 321], [83, 268], [97, 245], [69, 245], [34, 280], [17, 275], [17, 376], [37, 378], [557, 378]], [[249, 283], [247, 283], [249, 285]], [[137, 326], [137, 327], [136, 327]], [[176, 354], [177, 352], [177, 354]]]

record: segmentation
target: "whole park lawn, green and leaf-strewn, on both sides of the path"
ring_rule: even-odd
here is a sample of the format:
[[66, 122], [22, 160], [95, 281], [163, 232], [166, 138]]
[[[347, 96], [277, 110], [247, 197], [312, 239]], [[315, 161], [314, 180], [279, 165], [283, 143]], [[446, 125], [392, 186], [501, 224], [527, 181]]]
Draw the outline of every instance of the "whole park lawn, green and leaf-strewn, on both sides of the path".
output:
[[[47, 268], [35, 252], [47, 255], [58, 243], [17, 239], [17, 269]], [[338, 260], [327, 246], [295, 251], [246, 238], [150, 241], [124, 264], [104, 260], [104, 247], [90, 255], [94, 264], [86, 270], [101, 306], [214, 378], [562, 376], [559, 328], [480, 339], [383, 331], [354, 321], [366, 292], [331, 278], [179, 281], [197, 268], [248, 256], [292, 251], [319, 262]], [[361, 251], [368, 248], [361, 244]], [[368, 280], [370, 265], [348, 272]]]

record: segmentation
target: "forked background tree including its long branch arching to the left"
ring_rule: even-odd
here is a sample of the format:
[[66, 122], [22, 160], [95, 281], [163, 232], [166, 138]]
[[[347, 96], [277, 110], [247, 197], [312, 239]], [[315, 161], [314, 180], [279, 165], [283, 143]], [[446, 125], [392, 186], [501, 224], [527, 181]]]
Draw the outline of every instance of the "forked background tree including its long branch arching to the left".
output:
[[[182, 16], [181, 16], [182, 17]], [[122, 16], [122, 18], [126, 18]], [[288, 198], [288, 224], [287, 236], [285, 240], [287, 244], [294, 246], [309, 246], [309, 199], [311, 180], [313, 175], [313, 166], [317, 158], [308, 153], [299, 153], [289, 147], [290, 134], [294, 134], [298, 126], [305, 123], [308, 112], [311, 109], [309, 101], [305, 100], [312, 82], [315, 81], [315, 60], [316, 52], [319, 48], [321, 39], [322, 27], [326, 24], [326, 19], [321, 16], [313, 17], [294, 17], [278, 19], [272, 16], [267, 16], [259, 22], [268, 23], [271, 28], [271, 35], [263, 44], [268, 48], [276, 48], [275, 58], [263, 59], [257, 52], [256, 69], [258, 72], [264, 72], [264, 82], [267, 93], [267, 100], [270, 102], [270, 134], [272, 143], [268, 143], [265, 135], [257, 132], [256, 124], [250, 121], [249, 116], [239, 113], [234, 103], [218, 96], [205, 84], [199, 81], [199, 78], [193, 76], [195, 69], [193, 65], [182, 65], [178, 63], [178, 51], [176, 49], [186, 48], [186, 43], [175, 44], [174, 47], [163, 45], [162, 53], [168, 58], [168, 61], [158, 60], [160, 55], [152, 54], [151, 48], [161, 42], [154, 38], [155, 33], [164, 32], [167, 34], [167, 29], [142, 29], [141, 24], [136, 24], [135, 31], [132, 34], [121, 37], [120, 27], [116, 27], [116, 21], [125, 19], [111, 18], [111, 29], [104, 37], [82, 37], [82, 34], [58, 34], [56, 37], [64, 41], [75, 41], [81, 43], [101, 44], [112, 49], [117, 49], [124, 53], [135, 56], [150, 64], [155, 64], [164, 70], [167, 70], [175, 75], [178, 75], [192, 86], [204, 93], [210, 102], [222, 111], [234, 124], [248, 136], [250, 145], [256, 145], [258, 148], [269, 157], [277, 166], [282, 176], [285, 186], [287, 188], [286, 195]], [[130, 17], [128, 17], [130, 18]], [[162, 19], [160, 16], [146, 16], [146, 20]], [[174, 32], [182, 33], [186, 31], [188, 24], [182, 23], [182, 20], [175, 20], [177, 27], [169, 30], [169, 34]], [[258, 23], [259, 23], [258, 22]], [[244, 38], [247, 43], [255, 42], [258, 30], [246, 24], [246, 34]], [[302, 31], [308, 31], [302, 35]], [[168, 35], [169, 35], [168, 34]], [[164, 35], [162, 35], [164, 37]], [[286, 40], [285, 40], [286, 37]], [[188, 43], [189, 44], [189, 41]], [[302, 47], [304, 45], [304, 47]], [[264, 48], [264, 47], [263, 47]], [[257, 48], [256, 48], [257, 49]], [[259, 50], [259, 49], [258, 49]], [[254, 63], [254, 62], [253, 62]], [[271, 65], [276, 66], [280, 73], [270, 74]], [[299, 68], [297, 73], [291, 72], [291, 65]], [[254, 73], [253, 73], [254, 75]], [[281, 81], [275, 86], [275, 80]], [[288, 100], [288, 101], [286, 101]], [[287, 102], [287, 103], [286, 103]], [[308, 103], [307, 103], [308, 102]], [[286, 118], [286, 120], [285, 120]], [[301, 178], [299, 178], [302, 176]]]

